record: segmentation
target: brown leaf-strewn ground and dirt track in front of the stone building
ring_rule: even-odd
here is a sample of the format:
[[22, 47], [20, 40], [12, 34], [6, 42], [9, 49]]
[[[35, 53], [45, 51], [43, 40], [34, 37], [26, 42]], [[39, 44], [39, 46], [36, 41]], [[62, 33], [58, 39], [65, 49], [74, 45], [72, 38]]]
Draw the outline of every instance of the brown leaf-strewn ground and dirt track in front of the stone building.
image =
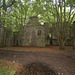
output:
[[70, 46], [64, 51], [59, 50], [58, 46], [3, 47], [0, 48], [0, 59], [15, 61], [24, 67], [34, 64], [37, 66], [33, 69], [38, 71], [41, 65], [45, 65], [46, 69], [50, 68], [58, 75], [75, 75], [75, 51]]

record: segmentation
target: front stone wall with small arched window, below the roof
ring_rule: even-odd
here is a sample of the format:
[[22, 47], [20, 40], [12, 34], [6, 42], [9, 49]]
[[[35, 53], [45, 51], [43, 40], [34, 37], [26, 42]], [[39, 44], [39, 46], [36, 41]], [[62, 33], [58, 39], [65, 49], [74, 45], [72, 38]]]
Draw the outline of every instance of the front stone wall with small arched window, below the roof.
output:
[[25, 26], [22, 32], [22, 46], [45, 47], [45, 32], [43, 26]]

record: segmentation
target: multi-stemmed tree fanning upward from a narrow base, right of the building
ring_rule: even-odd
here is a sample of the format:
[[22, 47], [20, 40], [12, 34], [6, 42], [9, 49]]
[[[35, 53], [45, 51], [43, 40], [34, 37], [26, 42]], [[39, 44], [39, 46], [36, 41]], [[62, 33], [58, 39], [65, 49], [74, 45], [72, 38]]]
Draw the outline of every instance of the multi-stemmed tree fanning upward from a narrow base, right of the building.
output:
[[[74, 20], [75, 13], [72, 12], [73, 3], [68, 2], [69, 0], [55, 0], [52, 4], [51, 11], [54, 17], [54, 35], [56, 36], [60, 49], [65, 49], [64, 45], [69, 37], [70, 25]], [[67, 11], [67, 6], [70, 10]]]

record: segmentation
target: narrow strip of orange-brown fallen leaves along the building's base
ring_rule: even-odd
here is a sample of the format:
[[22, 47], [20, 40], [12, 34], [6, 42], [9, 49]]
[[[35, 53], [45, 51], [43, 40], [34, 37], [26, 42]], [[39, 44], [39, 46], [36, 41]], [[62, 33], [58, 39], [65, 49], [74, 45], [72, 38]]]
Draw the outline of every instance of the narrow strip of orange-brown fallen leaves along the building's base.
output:
[[47, 46], [47, 47], [1, 47], [1, 50], [11, 51], [48, 51], [48, 52], [70, 52], [72, 51], [71, 46], [66, 46], [66, 50], [59, 50], [58, 46]]

